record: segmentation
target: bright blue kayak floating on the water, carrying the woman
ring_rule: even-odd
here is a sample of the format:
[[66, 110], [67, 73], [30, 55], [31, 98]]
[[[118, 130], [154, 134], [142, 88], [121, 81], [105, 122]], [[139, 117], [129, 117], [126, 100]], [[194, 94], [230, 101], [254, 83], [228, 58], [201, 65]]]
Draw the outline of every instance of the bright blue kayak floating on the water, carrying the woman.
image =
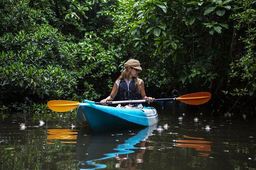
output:
[[81, 103], [77, 109], [77, 120], [98, 132], [117, 128], [150, 126], [158, 122], [158, 115], [157, 110], [153, 107], [124, 109]]

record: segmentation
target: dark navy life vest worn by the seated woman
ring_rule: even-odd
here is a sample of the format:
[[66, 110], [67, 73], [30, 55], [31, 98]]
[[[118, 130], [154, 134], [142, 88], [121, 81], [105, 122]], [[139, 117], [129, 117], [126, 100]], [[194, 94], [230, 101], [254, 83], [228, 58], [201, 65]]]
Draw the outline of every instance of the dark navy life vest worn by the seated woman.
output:
[[141, 100], [142, 97], [137, 91], [134, 79], [129, 83], [129, 90], [126, 81], [120, 80], [118, 86], [118, 95], [120, 100]]

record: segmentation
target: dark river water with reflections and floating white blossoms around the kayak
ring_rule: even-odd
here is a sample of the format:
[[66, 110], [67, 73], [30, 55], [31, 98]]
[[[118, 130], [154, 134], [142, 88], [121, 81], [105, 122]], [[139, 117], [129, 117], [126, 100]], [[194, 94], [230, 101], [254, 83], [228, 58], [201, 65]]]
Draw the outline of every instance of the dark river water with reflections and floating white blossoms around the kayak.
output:
[[157, 125], [99, 133], [73, 112], [0, 114], [0, 169], [256, 169], [253, 113], [203, 106], [155, 103]]

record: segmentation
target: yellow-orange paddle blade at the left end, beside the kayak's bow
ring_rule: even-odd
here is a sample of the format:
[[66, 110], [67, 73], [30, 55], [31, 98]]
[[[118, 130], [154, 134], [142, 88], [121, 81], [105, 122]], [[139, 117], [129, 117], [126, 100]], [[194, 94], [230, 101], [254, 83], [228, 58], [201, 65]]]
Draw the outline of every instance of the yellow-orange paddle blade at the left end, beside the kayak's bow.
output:
[[47, 106], [55, 112], [67, 112], [79, 106], [79, 102], [67, 100], [51, 100], [47, 102]]

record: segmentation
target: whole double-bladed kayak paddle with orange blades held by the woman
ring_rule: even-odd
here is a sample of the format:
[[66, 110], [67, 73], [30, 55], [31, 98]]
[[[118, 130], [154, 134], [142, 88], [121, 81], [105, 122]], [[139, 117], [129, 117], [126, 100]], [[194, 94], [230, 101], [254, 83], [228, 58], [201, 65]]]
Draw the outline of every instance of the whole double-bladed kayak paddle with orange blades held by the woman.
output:
[[[211, 94], [208, 92], [201, 92], [201, 93], [192, 93], [188, 95], [183, 95], [178, 98], [166, 98], [166, 99], [155, 99], [155, 101], [174, 101], [178, 100], [186, 104], [191, 105], [199, 105], [204, 104], [209, 101], [211, 98]], [[125, 100], [125, 101], [108, 101], [107, 104], [120, 104], [120, 103], [143, 103], [148, 102], [148, 99], [145, 100]], [[83, 100], [83, 103], [88, 104], [101, 104], [100, 102]], [[67, 101], [67, 100], [51, 100], [48, 101], [47, 106], [55, 111], [55, 112], [67, 112], [75, 109], [79, 106], [79, 102], [76, 101]]]

